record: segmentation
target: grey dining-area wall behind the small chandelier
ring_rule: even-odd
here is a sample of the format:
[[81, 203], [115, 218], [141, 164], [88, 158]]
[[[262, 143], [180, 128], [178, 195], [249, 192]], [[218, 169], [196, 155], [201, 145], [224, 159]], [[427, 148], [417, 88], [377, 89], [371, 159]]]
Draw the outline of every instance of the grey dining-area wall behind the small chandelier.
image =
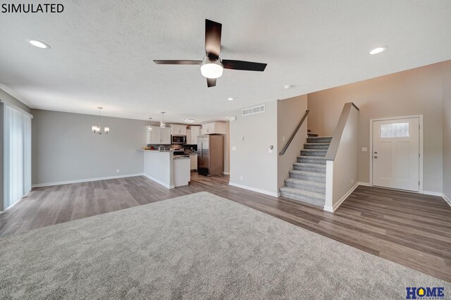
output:
[[[96, 115], [32, 110], [32, 184], [144, 172], [147, 122], [102, 117], [109, 135], [94, 135]], [[116, 173], [119, 169], [120, 173]]]

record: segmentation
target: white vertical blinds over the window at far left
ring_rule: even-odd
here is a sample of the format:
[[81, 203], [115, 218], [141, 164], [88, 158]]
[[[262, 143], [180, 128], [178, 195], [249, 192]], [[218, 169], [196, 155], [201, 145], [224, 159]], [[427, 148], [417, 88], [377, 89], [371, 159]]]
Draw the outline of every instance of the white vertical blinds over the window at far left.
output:
[[31, 190], [31, 117], [4, 106], [4, 209]]

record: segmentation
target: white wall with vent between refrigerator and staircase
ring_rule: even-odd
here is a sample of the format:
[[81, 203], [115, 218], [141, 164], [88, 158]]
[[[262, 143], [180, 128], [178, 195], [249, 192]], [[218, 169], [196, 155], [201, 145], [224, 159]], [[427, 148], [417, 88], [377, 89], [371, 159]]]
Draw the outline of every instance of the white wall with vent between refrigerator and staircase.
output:
[[239, 110], [231, 114], [237, 120], [230, 122], [230, 185], [278, 194], [277, 102], [266, 102], [264, 113], [242, 117]]

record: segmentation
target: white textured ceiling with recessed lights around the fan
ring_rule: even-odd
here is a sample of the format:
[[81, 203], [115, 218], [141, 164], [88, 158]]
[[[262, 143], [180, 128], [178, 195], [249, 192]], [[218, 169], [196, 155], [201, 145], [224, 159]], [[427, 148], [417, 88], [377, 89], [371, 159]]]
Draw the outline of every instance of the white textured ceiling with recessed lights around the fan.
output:
[[[264, 101], [451, 59], [449, 0], [63, 4], [63, 13], [0, 14], [0, 87], [32, 108], [97, 114], [104, 106], [104, 115], [123, 118], [167, 111], [171, 121], [223, 119]], [[207, 88], [198, 65], [152, 62], [202, 59], [205, 18], [223, 24], [221, 58], [268, 63], [264, 73], [224, 70]], [[369, 56], [379, 45], [388, 51]]]

